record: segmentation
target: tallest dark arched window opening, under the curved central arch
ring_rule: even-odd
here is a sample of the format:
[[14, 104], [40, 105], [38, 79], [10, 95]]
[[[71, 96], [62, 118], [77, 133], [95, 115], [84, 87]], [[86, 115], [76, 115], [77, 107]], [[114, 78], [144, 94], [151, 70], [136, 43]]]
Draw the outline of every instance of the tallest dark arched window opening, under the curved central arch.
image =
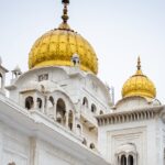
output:
[[65, 124], [66, 118], [65, 118], [66, 107], [63, 99], [57, 100], [56, 105], [56, 120], [58, 123]]

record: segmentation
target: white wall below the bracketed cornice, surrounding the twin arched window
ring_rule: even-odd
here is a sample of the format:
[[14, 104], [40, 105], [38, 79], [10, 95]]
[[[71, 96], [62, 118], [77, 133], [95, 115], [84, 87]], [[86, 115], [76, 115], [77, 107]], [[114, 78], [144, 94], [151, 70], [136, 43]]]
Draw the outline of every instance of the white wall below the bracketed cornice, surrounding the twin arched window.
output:
[[157, 120], [118, 123], [100, 127], [98, 148], [103, 157], [114, 163], [116, 150], [125, 143], [133, 143], [138, 150], [138, 165], [163, 165], [161, 125]]

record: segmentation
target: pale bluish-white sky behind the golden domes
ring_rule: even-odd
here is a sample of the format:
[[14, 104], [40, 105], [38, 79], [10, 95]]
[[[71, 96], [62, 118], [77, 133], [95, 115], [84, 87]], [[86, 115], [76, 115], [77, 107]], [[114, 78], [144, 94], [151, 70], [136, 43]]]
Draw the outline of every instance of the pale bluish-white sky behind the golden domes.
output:
[[[57, 28], [61, 0], [0, 0], [0, 55], [12, 70], [28, 70], [29, 52], [37, 37]], [[113, 86], [116, 101], [123, 82], [142, 69], [165, 101], [165, 0], [70, 0], [69, 25], [94, 46], [99, 78]], [[8, 74], [11, 78], [11, 74]]]

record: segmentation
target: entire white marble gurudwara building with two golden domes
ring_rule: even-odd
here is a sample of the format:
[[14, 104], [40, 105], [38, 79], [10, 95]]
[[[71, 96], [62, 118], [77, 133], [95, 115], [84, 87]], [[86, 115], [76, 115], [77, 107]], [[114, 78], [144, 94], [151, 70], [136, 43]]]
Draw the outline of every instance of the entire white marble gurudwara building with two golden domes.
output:
[[164, 165], [165, 106], [140, 58], [113, 105], [63, 3], [62, 24], [36, 40], [26, 73], [15, 67], [7, 86], [0, 62], [0, 165]]

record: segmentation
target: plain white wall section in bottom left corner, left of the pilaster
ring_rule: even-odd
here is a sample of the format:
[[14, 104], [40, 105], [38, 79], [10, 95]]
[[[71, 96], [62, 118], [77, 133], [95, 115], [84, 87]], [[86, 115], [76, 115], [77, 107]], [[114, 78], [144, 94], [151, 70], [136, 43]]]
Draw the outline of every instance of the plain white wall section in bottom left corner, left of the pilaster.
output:
[[0, 164], [8, 165], [14, 162], [16, 165], [28, 165], [30, 160], [29, 138], [0, 124]]

